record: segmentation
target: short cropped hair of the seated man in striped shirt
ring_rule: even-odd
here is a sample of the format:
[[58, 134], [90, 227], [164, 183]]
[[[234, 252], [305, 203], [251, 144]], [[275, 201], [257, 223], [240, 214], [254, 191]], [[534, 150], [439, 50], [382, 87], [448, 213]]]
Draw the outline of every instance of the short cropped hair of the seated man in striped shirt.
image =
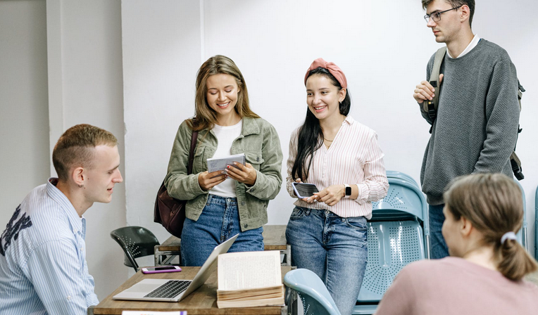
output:
[[58, 179], [67, 181], [73, 167], [93, 167], [96, 146], [116, 146], [118, 139], [111, 132], [92, 126], [77, 124], [67, 129], [52, 151], [52, 163]]

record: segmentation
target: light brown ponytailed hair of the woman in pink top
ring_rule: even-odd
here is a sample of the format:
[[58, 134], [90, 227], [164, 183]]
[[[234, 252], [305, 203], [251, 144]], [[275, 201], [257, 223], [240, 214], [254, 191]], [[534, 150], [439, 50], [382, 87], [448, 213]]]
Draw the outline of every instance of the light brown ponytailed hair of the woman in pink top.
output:
[[518, 184], [503, 174], [471, 174], [458, 177], [443, 195], [454, 219], [468, 219], [492, 245], [497, 269], [511, 280], [520, 280], [538, 264], [516, 240], [504, 233], [519, 231], [523, 224], [523, 198]]

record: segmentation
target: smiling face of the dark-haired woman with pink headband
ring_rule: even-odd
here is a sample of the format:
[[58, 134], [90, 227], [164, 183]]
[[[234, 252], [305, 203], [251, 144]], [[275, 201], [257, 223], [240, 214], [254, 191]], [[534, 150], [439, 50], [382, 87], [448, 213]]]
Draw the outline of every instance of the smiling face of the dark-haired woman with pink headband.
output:
[[345, 96], [346, 90], [334, 86], [325, 75], [311, 75], [306, 79], [306, 103], [318, 120], [340, 117], [339, 103]]

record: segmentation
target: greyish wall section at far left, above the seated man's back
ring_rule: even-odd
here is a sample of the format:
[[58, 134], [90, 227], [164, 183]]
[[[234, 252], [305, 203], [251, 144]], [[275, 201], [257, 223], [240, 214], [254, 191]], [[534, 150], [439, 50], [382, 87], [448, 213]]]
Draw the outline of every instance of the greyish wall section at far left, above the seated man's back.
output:
[[[0, 1], [0, 231], [49, 177], [45, 1]], [[1, 233], [1, 232], [0, 232]]]

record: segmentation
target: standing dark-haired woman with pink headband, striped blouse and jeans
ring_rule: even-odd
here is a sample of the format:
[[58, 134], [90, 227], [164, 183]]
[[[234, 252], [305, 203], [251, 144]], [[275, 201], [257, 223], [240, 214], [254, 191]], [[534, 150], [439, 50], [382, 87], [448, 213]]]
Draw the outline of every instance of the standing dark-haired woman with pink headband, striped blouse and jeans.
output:
[[296, 200], [286, 237], [292, 264], [315, 272], [343, 315], [351, 314], [366, 268], [372, 202], [387, 195], [383, 153], [375, 131], [349, 116], [344, 72], [322, 58], [304, 77], [306, 119], [289, 141], [287, 190], [293, 182], [319, 192]]

